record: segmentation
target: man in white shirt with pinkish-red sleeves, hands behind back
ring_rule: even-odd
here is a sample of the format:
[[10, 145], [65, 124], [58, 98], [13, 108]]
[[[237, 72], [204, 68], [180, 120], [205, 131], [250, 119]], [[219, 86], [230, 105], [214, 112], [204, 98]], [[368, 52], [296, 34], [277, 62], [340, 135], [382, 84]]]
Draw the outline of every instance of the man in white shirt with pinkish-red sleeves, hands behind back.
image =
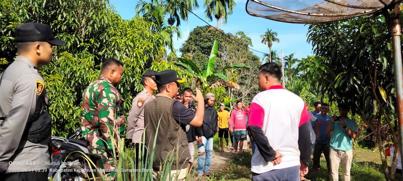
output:
[[304, 101], [281, 86], [281, 76], [276, 63], [259, 67], [261, 92], [250, 104], [247, 127], [257, 146], [252, 180], [299, 181], [308, 173], [310, 115]]

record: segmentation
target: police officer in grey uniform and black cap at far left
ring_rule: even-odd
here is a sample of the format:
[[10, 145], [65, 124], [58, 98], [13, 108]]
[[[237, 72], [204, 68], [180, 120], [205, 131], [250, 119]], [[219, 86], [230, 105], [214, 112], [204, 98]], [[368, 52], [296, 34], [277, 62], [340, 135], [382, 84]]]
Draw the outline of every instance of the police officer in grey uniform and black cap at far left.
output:
[[18, 56], [0, 78], [0, 177], [47, 180], [51, 121], [38, 68], [50, 63], [52, 46], [65, 42], [39, 23], [19, 25], [15, 41]]

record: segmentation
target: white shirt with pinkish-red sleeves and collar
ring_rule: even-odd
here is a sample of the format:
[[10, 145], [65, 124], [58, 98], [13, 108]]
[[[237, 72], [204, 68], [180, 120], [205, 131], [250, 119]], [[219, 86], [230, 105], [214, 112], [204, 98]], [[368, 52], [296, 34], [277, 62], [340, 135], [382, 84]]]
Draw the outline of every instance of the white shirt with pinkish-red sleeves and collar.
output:
[[280, 164], [265, 161], [258, 149], [252, 156], [251, 171], [263, 173], [300, 165], [298, 127], [310, 119], [304, 101], [281, 85], [257, 94], [250, 104], [248, 126], [260, 127], [270, 146], [284, 156]]

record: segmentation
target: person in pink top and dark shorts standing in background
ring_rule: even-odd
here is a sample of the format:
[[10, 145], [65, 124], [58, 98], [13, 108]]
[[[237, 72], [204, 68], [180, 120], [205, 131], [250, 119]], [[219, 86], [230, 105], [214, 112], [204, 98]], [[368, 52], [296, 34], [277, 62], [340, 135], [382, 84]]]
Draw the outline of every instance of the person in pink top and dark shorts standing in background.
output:
[[[245, 110], [242, 109], [245, 108]], [[249, 108], [241, 101], [236, 102], [236, 109], [231, 112], [230, 132], [234, 133], [235, 154], [242, 152], [243, 141], [246, 140], [246, 116], [249, 115]], [[238, 152], [239, 145], [239, 152]]]

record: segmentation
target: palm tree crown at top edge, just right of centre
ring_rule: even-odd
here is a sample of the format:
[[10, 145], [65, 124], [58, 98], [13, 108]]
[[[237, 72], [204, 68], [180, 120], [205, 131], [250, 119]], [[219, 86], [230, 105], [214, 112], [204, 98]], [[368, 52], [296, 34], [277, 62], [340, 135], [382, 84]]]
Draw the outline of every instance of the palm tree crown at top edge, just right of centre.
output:
[[217, 19], [217, 28], [220, 24], [220, 19], [227, 22], [228, 15], [233, 13], [232, 9], [235, 7], [236, 3], [234, 0], [205, 0], [204, 7], [206, 8], [206, 17], [213, 21], [214, 18]]

